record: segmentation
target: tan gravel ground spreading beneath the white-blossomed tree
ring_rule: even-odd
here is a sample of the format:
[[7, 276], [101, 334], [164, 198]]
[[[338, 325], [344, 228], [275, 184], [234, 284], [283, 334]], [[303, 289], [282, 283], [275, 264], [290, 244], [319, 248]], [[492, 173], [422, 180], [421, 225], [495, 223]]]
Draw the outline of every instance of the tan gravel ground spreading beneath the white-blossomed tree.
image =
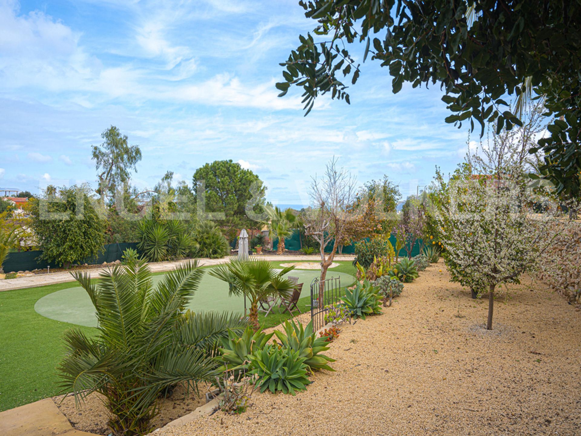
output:
[[343, 327], [336, 372], [306, 392], [254, 394], [240, 416], [155, 435], [581, 434], [581, 313], [530, 280], [496, 300], [492, 331], [486, 313], [440, 262], [383, 315]]

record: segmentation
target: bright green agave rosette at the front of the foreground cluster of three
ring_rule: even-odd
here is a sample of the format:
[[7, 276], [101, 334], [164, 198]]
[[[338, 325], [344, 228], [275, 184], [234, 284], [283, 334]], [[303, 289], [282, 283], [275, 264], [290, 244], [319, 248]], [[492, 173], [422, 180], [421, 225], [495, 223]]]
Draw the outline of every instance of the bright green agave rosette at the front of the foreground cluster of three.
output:
[[306, 360], [299, 352], [290, 348], [279, 348], [267, 344], [263, 349], [250, 355], [252, 370], [256, 374], [260, 392], [270, 389], [275, 394], [282, 391], [285, 394], [296, 395], [296, 391], [304, 391], [311, 383], [307, 378]]

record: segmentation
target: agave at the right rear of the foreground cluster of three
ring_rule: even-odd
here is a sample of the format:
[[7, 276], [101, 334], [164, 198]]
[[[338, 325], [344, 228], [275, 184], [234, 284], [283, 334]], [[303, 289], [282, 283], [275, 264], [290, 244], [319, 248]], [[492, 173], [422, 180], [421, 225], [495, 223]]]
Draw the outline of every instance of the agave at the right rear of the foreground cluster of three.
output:
[[319, 354], [322, 351], [327, 351], [329, 347], [326, 346], [325, 337], [317, 338], [317, 334], [313, 331], [312, 320], [306, 328], [303, 328], [303, 324], [297, 325], [294, 320], [290, 322], [286, 320], [284, 330], [286, 334], [278, 330], [275, 330], [274, 334], [277, 335], [282, 346], [298, 352], [299, 356], [305, 359], [304, 364], [310, 372], [321, 369], [335, 371], [327, 364], [335, 362], [335, 359]]

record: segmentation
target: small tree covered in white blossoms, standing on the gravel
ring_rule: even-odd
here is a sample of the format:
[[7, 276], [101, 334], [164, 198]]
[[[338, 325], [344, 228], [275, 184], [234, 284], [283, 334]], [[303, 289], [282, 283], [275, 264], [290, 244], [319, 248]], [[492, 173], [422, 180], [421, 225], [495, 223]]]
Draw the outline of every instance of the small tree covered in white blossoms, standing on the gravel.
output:
[[539, 267], [541, 253], [568, 226], [552, 187], [532, 183], [507, 156], [494, 144], [483, 156], [467, 156], [449, 182], [438, 173], [439, 201], [431, 208], [453, 280], [488, 291], [488, 330], [496, 287]]

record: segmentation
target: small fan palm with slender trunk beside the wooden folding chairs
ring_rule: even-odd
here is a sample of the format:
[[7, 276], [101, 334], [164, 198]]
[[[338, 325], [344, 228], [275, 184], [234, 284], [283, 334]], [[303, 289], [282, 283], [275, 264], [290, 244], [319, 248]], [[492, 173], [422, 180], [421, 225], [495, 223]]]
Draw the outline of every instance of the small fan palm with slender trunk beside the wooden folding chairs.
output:
[[228, 283], [230, 295], [243, 295], [250, 299], [250, 324], [258, 330], [258, 304], [272, 295], [288, 296], [295, 290], [295, 285], [284, 277], [284, 274], [294, 269], [289, 266], [276, 270], [266, 260], [232, 259], [229, 263], [217, 265], [210, 270], [214, 276]]

